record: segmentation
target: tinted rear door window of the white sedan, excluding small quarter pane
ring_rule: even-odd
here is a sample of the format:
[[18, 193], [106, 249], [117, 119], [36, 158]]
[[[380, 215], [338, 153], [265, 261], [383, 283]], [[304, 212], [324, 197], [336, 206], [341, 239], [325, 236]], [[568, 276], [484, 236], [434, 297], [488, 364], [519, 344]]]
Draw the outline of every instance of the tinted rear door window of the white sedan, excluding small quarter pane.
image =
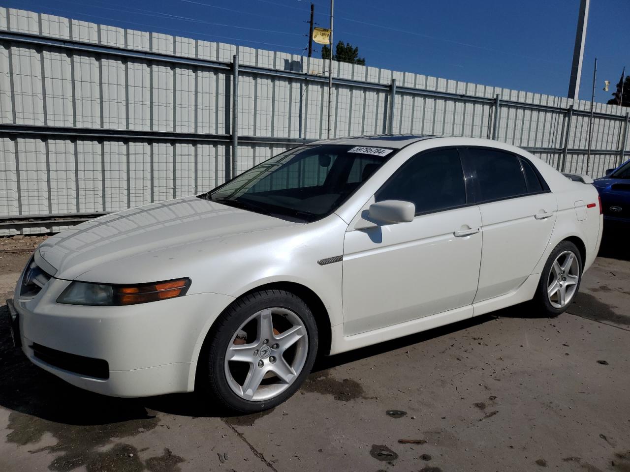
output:
[[471, 165], [477, 171], [478, 201], [500, 200], [527, 194], [518, 157], [494, 149], [469, 148]]

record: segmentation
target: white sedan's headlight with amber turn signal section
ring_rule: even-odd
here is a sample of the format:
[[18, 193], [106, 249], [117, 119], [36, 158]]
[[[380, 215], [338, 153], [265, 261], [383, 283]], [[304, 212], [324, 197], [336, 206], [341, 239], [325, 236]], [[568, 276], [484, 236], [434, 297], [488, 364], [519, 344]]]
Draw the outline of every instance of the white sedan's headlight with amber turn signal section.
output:
[[120, 306], [166, 300], [186, 295], [190, 279], [176, 279], [142, 285], [109, 285], [72, 282], [57, 298], [66, 305]]

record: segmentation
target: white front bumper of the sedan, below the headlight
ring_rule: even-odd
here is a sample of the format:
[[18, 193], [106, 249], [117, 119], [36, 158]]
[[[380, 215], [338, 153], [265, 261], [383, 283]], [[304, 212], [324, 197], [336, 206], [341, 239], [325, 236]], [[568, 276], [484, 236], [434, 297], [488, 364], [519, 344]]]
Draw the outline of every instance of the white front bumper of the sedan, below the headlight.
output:
[[[72, 385], [111, 396], [192, 391], [205, 335], [234, 300], [197, 293], [130, 306], [56, 303], [68, 284], [52, 278], [33, 298], [20, 299], [16, 293], [13, 305], [22, 350], [33, 364]], [[42, 356], [38, 346], [74, 355], [66, 357], [105, 361], [108, 375], [80, 373], [72, 364]]]

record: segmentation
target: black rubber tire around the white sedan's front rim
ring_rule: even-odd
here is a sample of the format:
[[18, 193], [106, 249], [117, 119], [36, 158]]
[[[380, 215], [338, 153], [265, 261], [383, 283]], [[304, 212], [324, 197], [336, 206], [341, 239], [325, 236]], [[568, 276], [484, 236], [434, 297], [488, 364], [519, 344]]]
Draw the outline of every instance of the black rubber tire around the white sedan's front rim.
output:
[[[306, 361], [301, 371], [297, 373], [297, 377], [277, 396], [258, 402], [246, 400], [237, 395], [229, 384], [224, 368], [226, 351], [236, 331], [249, 317], [272, 307], [285, 308], [300, 318], [306, 328], [308, 340]], [[311, 372], [317, 349], [317, 324], [309, 306], [301, 298], [288, 291], [276, 289], [244, 295], [221, 313], [210, 330], [200, 354], [195, 390], [201, 395], [212, 396], [221, 403], [222, 407], [231, 412], [255, 413], [268, 410], [287, 400], [300, 388], [306, 376]]]

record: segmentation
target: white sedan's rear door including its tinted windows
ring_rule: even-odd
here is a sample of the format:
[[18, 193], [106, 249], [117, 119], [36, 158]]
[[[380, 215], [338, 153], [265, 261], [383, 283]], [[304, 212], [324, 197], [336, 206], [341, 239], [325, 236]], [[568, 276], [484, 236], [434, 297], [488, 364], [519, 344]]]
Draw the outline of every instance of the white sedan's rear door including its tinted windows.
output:
[[558, 204], [525, 157], [482, 147], [461, 152], [481, 211], [476, 303], [510, 293], [534, 271], [551, 238]]

